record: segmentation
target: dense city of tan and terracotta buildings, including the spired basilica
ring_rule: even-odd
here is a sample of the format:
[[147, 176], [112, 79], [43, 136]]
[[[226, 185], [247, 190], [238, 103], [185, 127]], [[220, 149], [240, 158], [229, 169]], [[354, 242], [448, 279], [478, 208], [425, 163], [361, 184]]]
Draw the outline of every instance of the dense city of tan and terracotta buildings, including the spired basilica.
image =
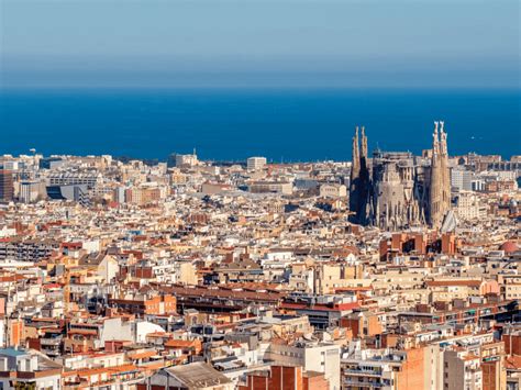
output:
[[0, 388], [519, 389], [521, 156], [450, 131], [413, 155], [357, 126], [352, 161], [1, 156]]

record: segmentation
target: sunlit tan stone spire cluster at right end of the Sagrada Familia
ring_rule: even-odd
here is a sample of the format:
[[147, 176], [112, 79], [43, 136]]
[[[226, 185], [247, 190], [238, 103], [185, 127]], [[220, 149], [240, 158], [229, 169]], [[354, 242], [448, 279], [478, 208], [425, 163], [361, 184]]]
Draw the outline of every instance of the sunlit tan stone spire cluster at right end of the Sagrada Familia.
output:
[[[440, 134], [437, 132], [439, 126]], [[429, 190], [429, 214], [432, 227], [439, 229], [451, 208], [451, 179], [444, 122], [434, 122]]]

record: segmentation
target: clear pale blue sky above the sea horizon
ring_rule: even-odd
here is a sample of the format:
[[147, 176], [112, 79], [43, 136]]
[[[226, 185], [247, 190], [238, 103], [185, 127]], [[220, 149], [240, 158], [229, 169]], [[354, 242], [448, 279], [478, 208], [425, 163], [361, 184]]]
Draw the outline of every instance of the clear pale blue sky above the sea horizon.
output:
[[0, 0], [2, 87], [514, 87], [518, 0]]

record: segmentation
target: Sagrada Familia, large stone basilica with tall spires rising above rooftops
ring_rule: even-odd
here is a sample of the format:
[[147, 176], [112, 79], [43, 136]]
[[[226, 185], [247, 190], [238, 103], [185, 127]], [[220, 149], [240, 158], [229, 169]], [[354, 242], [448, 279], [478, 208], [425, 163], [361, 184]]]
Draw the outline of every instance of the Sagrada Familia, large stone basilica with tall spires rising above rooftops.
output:
[[[361, 133], [361, 134], [359, 134]], [[451, 178], [444, 122], [434, 122], [428, 156], [376, 151], [367, 155], [365, 129], [353, 137], [350, 221], [383, 230], [429, 223], [439, 229], [451, 208]]]

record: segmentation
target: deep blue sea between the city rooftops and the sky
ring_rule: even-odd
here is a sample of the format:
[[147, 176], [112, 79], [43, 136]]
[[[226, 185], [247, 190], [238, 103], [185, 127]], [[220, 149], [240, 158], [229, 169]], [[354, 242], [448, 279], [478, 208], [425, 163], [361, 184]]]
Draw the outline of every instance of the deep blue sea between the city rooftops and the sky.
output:
[[510, 157], [520, 105], [520, 90], [4, 90], [0, 154], [345, 160], [356, 124], [369, 149], [421, 153], [445, 120], [451, 154]]

